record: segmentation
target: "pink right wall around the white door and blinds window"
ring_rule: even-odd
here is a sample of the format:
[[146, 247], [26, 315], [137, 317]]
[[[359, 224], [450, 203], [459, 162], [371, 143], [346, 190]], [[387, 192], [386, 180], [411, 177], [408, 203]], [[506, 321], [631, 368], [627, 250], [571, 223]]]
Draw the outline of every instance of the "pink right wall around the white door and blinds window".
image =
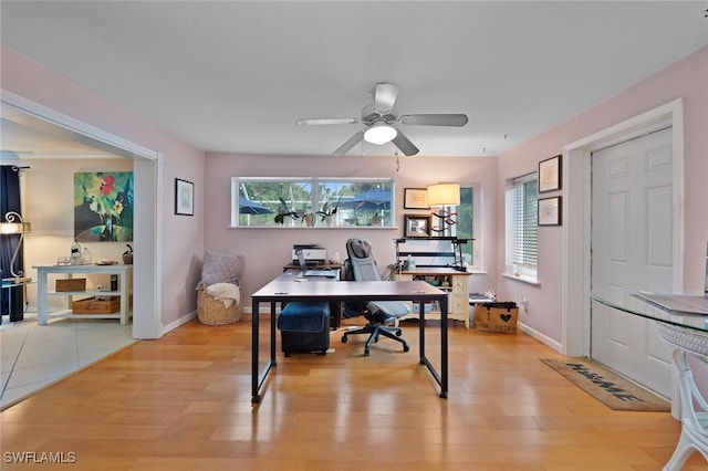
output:
[[[678, 61], [600, 105], [563, 123], [554, 129], [499, 156], [498, 188], [503, 200], [506, 179], [534, 170], [539, 160], [561, 154], [563, 146], [622, 123], [644, 112], [684, 100], [685, 122], [685, 231], [684, 290], [702, 290], [708, 241], [708, 46]], [[499, 220], [503, 234], [503, 220]], [[562, 228], [539, 229], [540, 287], [499, 278], [499, 294], [506, 299], [529, 300], [530, 315], [522, 321], [541, 334], [561, 341]], [[503, 265], [504, 248], [498, 248], [498, 263]]]

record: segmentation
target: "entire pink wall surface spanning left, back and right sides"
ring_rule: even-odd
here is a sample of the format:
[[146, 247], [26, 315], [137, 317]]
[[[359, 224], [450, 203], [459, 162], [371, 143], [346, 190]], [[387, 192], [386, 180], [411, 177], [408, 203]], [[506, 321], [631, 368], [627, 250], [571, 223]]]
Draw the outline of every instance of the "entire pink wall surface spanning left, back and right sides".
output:
[[[396, 172], [391, 157], [241, 156], [202, 151], [152, 127], [105, 100], [2, 46], [2, 88], [124, 137], [165, 156], [163, 172], [163, 313], [165, 324], [195, 308], [194, 285], [199, 276], [204, 248], [247, 255], [246, 303], [249, 294], [277, 274], [287, 262], [293, 242], [319, 242], [343, 251], [352, 236], [374, 243], [383, 263], [393, 261], [392, 239], [400, 229], [227, 229], [231, 176], [393, 177], [396, 179], [398, 217], [403, 189], [445, 180], [482, 182], [483, 254], [489, 275], [472, 276], [473, 291], [496, 289], [500, 296], [529, 300], [534, 313], [523, 321], [560, 341], [560, 274], [562, 231], [542, 228], [539, 250], [544, 260], [543, 285], [533, 287], [499, 276], [503, 268], [503, 182], [533, 170], [538, 161], [560, 154], [563, 146], [658, 105], [683, 97], [685, 105], [685, 279], [697, 289], [702, 279], [702, 253], [708, 240], [708, 48], [643, 81], [577, 117], [496, 158], [402, 158]], [[552, 106], [552, 104], [550, 104]], [[173, 214], [174, 179], [194, 181], [195, 217]], [[388, 255], [386, 255], [388, 254]]]

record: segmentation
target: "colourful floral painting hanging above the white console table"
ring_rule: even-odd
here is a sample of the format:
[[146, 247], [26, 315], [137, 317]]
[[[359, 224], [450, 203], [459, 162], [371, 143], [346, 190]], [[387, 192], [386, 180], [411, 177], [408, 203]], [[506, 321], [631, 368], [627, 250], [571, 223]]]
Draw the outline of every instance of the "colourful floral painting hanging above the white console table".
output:
[[74, 174], [74, 238], [80, 242], [133, 240], [132, 171]]

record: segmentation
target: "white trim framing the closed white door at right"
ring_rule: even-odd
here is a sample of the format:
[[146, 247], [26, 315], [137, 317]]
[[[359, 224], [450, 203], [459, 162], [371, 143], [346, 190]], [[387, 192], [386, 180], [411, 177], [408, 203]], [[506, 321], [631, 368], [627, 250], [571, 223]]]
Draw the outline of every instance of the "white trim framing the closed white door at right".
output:
[[562, 353], [590, 356], [591, 156], [594, 150], [671, 126], [674, 290], [683, 285], [684, 103], [677, 98], [563, 147]]

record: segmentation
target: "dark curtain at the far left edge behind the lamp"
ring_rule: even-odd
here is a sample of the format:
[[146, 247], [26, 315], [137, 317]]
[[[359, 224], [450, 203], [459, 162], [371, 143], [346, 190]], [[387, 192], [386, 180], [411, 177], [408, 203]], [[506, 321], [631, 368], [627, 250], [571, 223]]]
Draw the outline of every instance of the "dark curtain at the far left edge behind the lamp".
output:
[[[8, 211], [20, 213], [20, 170], [13, 165], [0, 166], [0, 220], [4, 222], [4, 214]], [[12, 261], [12, 252], [20, 241], [19, 234], [0, 237], [0, 271], [2, 278], [11, 275], [10, 262]], [[23, 270], [24, 258], [22, 252], [14, 262], [14, 272]], [[2, 306], [2, 315], [9, 314], [8, 294], [9, 290], [0, 290], [0, 305]]]

